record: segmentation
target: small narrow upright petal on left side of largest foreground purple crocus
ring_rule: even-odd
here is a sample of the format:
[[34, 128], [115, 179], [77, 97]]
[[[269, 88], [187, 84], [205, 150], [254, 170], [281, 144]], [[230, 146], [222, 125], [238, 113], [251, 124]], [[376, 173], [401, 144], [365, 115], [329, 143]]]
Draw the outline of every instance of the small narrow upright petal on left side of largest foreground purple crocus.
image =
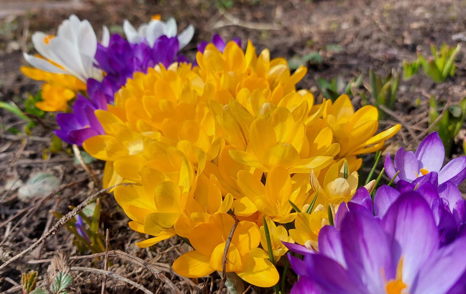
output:
[[319, 231], [318, 246], [319, 254], [323, 254], [346, 267], [340, 231], [334, 226], [326, 225]]

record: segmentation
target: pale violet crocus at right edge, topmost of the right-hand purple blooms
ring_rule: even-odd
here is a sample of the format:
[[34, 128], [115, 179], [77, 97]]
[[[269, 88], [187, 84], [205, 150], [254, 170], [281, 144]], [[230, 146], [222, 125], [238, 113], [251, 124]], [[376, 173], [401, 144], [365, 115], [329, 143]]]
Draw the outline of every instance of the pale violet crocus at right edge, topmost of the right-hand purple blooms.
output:
[[437, 132], [433, 132], [422, 140], [416, 153], [400, 148], [395, 154], [395, 165], [391, 161], [390, 153], [387, 153], [385, 172], [393, 178], [399, 171], [395, 182], [399, 180], [413, 182], [419, 176], [437, 172], [439, 184], [450, 181], [458, 186], [466, 178], [466, 156], [457, 157], [442, 168], [444, 158], [445, 149], [442, 140]]

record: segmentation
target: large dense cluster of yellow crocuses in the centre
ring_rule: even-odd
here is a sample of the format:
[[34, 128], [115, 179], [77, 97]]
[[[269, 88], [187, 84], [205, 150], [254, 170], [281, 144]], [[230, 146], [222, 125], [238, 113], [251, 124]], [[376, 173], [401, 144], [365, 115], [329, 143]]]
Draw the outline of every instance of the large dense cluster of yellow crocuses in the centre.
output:
[[136, 183], [114, 194], [130, 227], [153, 236], [138, 246], [185, 238], [194, 250], [173, 269], [202, 277], [222, 271], [229, 243], [226, 272], [271, 287], [279, 275], [264, 219], [275, 261], [287, 251], [281, 241], [317, 249], [328, 209], [356, 191], [357, 155], [379, 150], [400, 126], [376, 134], [377, 109], [355, 112], [345, 95], [315, 105], [295, 89], [306, 68], [292, 74], [285, 59], [257, 55], [251, 42], [246, 52], [209, 44], [196, 59], [194, 68], [136, 73], [115, 105], [96, 111], [106, 134], [83, 147], [107, 161], [107, 187]]

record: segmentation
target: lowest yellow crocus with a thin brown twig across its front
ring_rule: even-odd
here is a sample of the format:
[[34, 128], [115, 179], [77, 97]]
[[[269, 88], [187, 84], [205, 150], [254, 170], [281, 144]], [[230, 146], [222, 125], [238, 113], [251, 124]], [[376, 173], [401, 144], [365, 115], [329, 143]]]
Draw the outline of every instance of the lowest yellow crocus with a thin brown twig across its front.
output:
[[[173, 270], [188, 278], [200, 278], [222, 271], [226, 240], [235, 221], [226, 213], [209, 217], [208, 222], [198, 224], [189, 234], [194, 247], [173, 262]], [[265, 252], [257, 248], [260, 231], [256, 224], [241, 221], [233, 233], [225, 263], [226, 272], [235, 272], [246, 282], [259, 287], [272, 287], [279, 280], [275, 266], [265, 258]]]

